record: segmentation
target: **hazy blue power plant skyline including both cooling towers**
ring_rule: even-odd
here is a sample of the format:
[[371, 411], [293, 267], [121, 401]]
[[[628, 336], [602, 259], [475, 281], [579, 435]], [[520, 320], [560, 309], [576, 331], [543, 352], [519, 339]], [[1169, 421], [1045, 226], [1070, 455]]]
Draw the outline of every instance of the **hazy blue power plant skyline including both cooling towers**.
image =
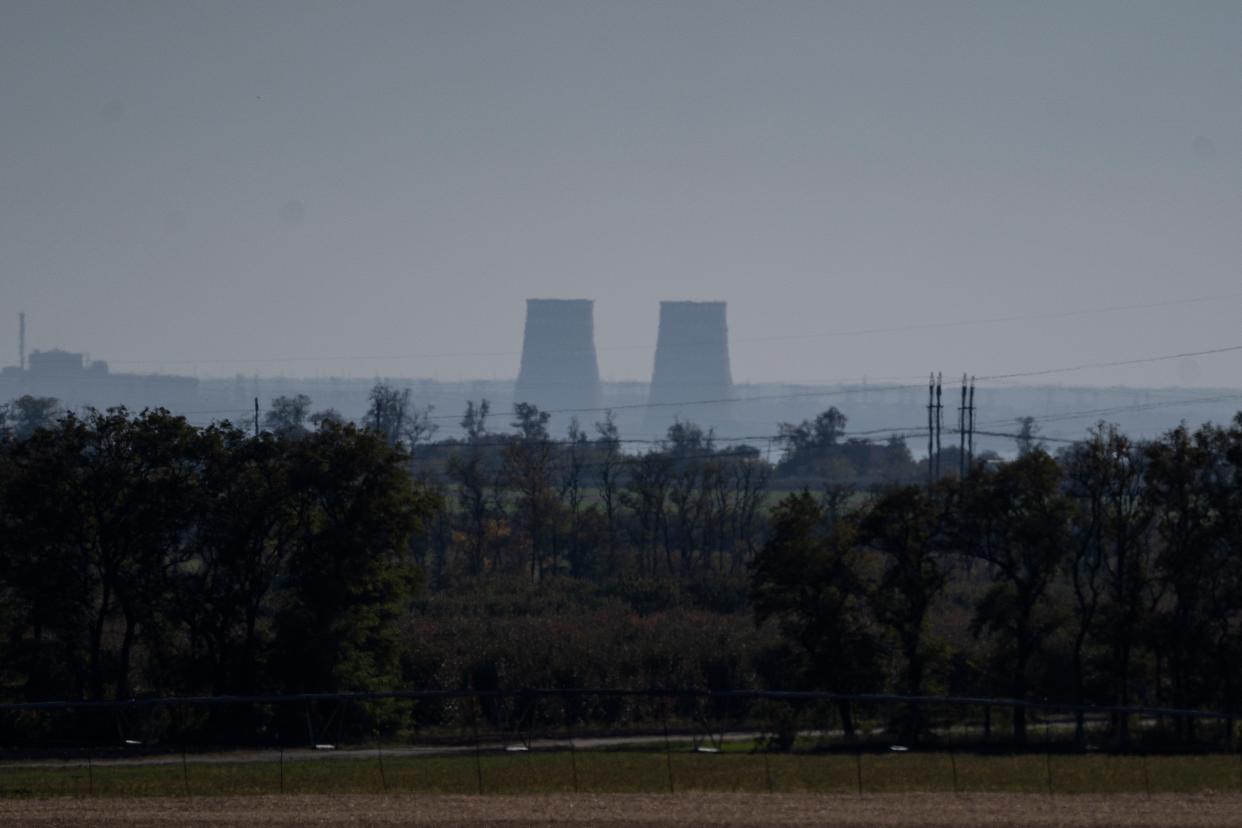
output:
[[[514, 402], [533, 402], [555, 412], [550, 431], [564, 437], [571, 416], [590, 434], [604, 418], [616, 416], [626, 438], [660, 441], [674, 420], [712, 428], [717, 436], [739, 438], [770, 433], [775, 423], [814, 418], [828, 405], [840, 405], [853, 431], [881, 430], [902, 422], [910, 412], [925, 411], [925, 391], [915, 386], [791, 385], [786, 382], [733, 384], [729, 334], [723, 302], [664, 302], [651, 381], [602, 381], [594, 343], [594, 303], [589, 299], [530, 299], [520, 376], [513, 379], [389, 377], [385, 382], [409, 390], [417, 406], [432, 406], [453, 418], [466, 400], [488, 400], [496, 418], [491, 427], [505, 428]], [[315, 408], [333, 408], [351, 420], [366, 416], [375, 377], [297, 376], [197, 377], [168, 374], [113, 372], [103, 360], [78, 351], [31, 349], [30, 322], [19, 314], [14, 365], [0, 366], [0, 405], [24, 395], [55, 397], [65, 411], [84, 407], [130, 411], [166, 407], [206, 426], [221, 420], [250, 423], [255, 402], [266, 408], [279, 396], [307, 394]], [[512, 376], [512, 375], [510, 375]], [[1138, 437], [1155, 437], [1169, 427], [1169, 407], [1195, 422], [1228, 422], [1237, 412], [1237, 389], [1200, 389], [1202, 400], [1187, 398], [1179, 387], [999, 387], [987, 392], [987, 411], [997, 422], [1012, 422], [1030, 411], [1046, 417], [1077, 417], [1084, 410], [1115, 408], [1119, 427]], [[837, 394], [848, 394], [838, 401]], [[1194, 394], [1190, 395], [1194, 397]], [[728, 402], [722, 403], [720, 400]], [[710, 401], [707, 405], [700, 401]], [[1128, 413], [1133, 410], [1133, 413]], [[456, 436], [446, 423], [443, 436]], [[749, 439], [749, 437], [746, 437]], [[989, 437], [984, 448], [1012, 451], [1012, 439]], [[647, 446], [650, 443], [636, 444]], [[637, 451], [637, 449], [635, 449]]]

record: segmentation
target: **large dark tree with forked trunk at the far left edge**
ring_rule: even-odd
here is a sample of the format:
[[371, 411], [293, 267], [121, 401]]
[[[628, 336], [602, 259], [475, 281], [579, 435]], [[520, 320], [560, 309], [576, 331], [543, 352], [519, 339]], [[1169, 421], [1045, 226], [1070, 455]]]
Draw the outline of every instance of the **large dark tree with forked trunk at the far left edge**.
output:
[[139, 636], [158, 644], [170, 574], [188, 560], [195, 431], [163, 410], [92, 410], [35, 431], [12, 461], [6, 534], [22, 557], [10, 575], [30, 596], [36, 646], [46, 632], [65, 648], [82, 695], [128, 698]]

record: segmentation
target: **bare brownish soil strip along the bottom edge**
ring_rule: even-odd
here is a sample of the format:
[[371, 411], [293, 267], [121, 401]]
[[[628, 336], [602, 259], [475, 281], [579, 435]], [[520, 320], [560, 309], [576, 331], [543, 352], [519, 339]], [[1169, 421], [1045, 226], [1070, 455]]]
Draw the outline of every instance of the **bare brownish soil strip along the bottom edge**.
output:
[[1238, 826], [1240, 794], [262, 796], [0, 801], [21, 826]]

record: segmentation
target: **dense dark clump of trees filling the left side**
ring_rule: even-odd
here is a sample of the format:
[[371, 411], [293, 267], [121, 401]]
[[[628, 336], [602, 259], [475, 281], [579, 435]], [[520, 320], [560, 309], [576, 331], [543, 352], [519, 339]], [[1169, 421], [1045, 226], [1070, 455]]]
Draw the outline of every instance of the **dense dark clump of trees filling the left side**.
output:
[[435, 513], [350, 425], [301, 439], [163, 411], [4, 446], [0, 686], [21, 698], [391, 686]]

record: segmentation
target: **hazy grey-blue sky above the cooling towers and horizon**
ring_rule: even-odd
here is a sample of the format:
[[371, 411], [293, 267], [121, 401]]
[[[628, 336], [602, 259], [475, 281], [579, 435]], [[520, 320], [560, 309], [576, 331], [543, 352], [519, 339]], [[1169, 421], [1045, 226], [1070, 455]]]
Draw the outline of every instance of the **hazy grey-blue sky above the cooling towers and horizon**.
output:
[[737, 380], [984, 375], [1240, 345], [1240, 263], [1238, 2], [0, 0], [4, 364], [508, 377], [582, 297], [609, 379], [661, 299]]

